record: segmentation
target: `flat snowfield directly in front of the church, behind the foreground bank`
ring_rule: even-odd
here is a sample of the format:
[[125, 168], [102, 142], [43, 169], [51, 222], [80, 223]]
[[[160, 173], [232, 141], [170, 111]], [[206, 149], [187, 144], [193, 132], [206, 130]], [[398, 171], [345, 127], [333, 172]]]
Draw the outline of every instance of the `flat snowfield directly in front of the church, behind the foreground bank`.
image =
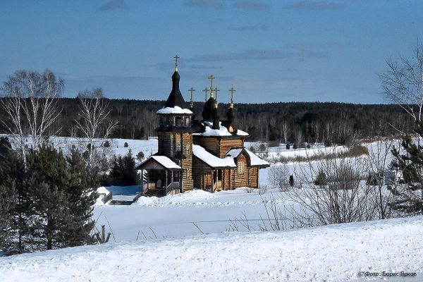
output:
[[[130, 206], [105, 204], [94, 207], [97, 226], [105, 225], [114, 233], [116, 241], [144, 238], [180, 238], [187, 235], [227, 231], [231, 220], [245, 214], [256, 228], [260, 216], [266, 216], [263, 201], [277, 198], [278, 207], [292, 207], [289, 195], [277, 189], [259, 195], [245, 188], [221, 192], [192, 190], [166, 197], [140, 197]], [[150, 229], [151, 228], [151, 229]]]

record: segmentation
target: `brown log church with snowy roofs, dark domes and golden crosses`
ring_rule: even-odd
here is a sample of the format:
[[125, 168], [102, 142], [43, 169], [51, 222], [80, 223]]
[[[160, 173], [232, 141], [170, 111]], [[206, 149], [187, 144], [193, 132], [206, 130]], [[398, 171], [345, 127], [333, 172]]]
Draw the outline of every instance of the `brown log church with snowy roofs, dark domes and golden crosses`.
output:
[[[193, 188], [229, 190], [239, 187], [259, 186], [259, 169], [269, 163], [244, 147], [248, 133], [239, 130], [235, 121], [233, 89], [231, 105], [226, 118], [219, 117], [217, 88], [204, 90], [206, 100], [202, 120], [195, 119], [179, 90], [178, 56], [172, 75], [172, 90], [159, 116], [157, 154], [136, 166], [147, 176], [143, 191], [145, 195], [168, 195], [185, 192]], [[207, 92], [210, 92], [209, 97]], [[216, 93], [216, 99], [214, 98]]]

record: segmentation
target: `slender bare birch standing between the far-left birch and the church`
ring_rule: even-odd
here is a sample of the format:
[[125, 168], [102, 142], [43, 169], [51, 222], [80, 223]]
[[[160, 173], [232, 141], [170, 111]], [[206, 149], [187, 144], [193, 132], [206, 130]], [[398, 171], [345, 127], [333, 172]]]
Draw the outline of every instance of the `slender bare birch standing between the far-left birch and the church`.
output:
[[92, 169], [98, 157], [97, 148], [113, 133], [118, 121], [109, 117], [111, 107], [101, 88], [82, 92], [78, 94], [78, 99], [80, 106], [75, 123], [81, 135], [87, 139], [87, 167]]

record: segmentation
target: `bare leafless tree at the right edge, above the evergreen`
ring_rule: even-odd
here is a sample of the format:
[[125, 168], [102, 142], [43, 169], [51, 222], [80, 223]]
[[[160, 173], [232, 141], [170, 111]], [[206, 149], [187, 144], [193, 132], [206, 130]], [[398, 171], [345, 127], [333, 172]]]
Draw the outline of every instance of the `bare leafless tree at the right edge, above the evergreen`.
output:
[[423, 109], [423, 44], [412, 47], [412, 57], [400, 57], [399, 62], [388, 59], [388, 70], [380, 75], [386, 97], [398, 104], [416, 122]]

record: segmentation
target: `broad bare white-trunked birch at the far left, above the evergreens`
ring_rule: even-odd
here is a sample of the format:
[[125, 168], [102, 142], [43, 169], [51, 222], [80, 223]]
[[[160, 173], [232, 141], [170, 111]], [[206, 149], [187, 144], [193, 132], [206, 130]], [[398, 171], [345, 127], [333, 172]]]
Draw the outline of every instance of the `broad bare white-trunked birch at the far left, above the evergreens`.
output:
[[30, 146], [37, 149], [49, 139], [48, 130], [61, 112], [56, 98], [63, 85], [63, 80], [49, 70], [18, 71], [4, 82], [0, 101], [7, 118], [1, 122], [23, 157], [25, 140], [29, 139]]

